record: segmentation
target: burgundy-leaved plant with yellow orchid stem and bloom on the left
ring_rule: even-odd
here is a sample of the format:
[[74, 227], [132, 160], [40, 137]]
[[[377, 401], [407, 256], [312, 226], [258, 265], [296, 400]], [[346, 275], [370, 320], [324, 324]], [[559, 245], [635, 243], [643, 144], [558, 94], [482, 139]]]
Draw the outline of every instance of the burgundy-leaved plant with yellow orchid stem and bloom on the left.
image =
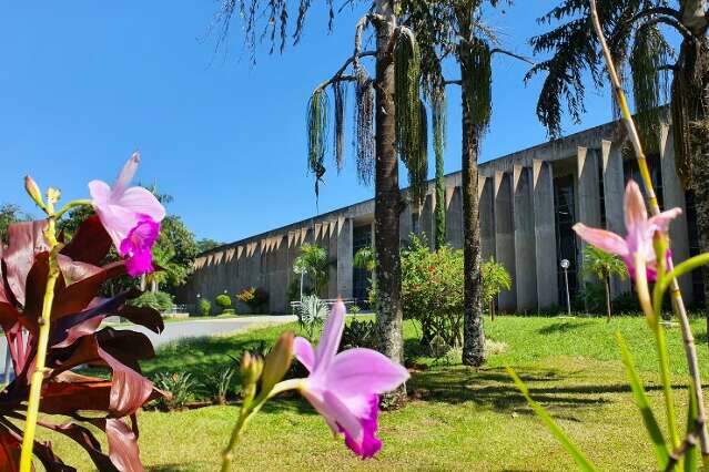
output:
[[[153, 270], [151, 248], [165, 211], [149, 191], [130, 186], [139, 162], [134, 154], [113, 186], [93, 181], [90, 199], [63, 207], [58, 207], [58, 189], [42, 193], [26, 178], [45, 218], [10, 225], [9, 244], [0, 245], [0, 326], [16, 373], [0, 402], [2, 470], [29, 472], [34, 459], [48, 471], [73, 470], [50, 442], [37, 439], [38, 425], [77, 442], [99, 470], [142, 470], [135, 412], [169, 396], [140, 372], [139, 361], [154, 356], [148, 337], [101, 328], [101, 321], [119, 315], [155, 332], [163, 321], [153, 308], [126, 304], [138, 290], [99, 295], [105, 281]], [[95, 215], [68, 239], [58, 223], [80, 206], [92, 207]], [[111, 246], [121, 260], [104, 264]], [[72, 372], [83, 365], [104, 369], [107, 377]], [[69, 421], [55, 423], [44, 415]], [[99, 441], [95, 431], [105, 440]]]

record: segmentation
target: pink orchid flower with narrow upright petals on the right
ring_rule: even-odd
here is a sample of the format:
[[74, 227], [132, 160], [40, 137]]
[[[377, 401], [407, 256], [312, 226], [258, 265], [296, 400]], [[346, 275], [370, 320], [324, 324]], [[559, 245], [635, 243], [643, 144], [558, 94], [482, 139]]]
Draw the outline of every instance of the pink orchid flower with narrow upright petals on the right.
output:
[[[636, 276], [635, 256], [645, 255], [647, 278], [655, 280], [657, 278], [657, 259], [652, 247], [652, 236], [655, 232], [666, 234], [670, 222], [678, 217], [682, 211], [681, 208], [672, 208], [648, 218], [640, 187], [635, 181], [628, 181], [624, 207], [627, 230], [625, 238], [605, 229], [589, 228], [581, 223], [574, 225], [574, 230], [585, 242], [608, 254], [621, 257], [634, 278]], [[669, 250], [665, 257], [669, 257]]]

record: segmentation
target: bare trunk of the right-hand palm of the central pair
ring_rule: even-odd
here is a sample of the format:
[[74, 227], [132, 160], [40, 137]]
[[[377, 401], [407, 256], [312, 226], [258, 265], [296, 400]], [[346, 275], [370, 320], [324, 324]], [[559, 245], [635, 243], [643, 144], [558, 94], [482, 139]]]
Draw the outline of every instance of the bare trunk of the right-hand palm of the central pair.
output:
[[[468, 54], [459, 54], [462, 83], [466, 84]], [[485, 362], [483, 332], [483, 277], [480, 273], [480, 225], [477, 201], [477, 153], [479, 133], [472, 122], [467, 96], [474, 91], [462, 88], [463, 95], [463, 258], [464, 258], [464, 340], [463, 363], [479, 367]]]

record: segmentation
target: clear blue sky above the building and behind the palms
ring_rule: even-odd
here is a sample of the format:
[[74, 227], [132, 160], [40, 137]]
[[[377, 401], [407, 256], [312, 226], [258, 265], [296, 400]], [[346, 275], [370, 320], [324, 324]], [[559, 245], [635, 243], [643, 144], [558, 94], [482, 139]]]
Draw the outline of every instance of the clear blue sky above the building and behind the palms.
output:
[[[90, 179], [112, 181], [140, 150], [139, 178], [173, 195], [169, 211], [199, 237], [231, 242], [315, 214], [305, 104], [351, 53], [361, 11], [343, 12], [327, 34], [325, 11], [314, 3], [302, 43], [283, 55], [264, 50], [252, 66], [239, 24], [229, 49], [215, 53], [217, 1], [0, 1], [0, 203], [31, 209], [27, 174], [65, 199], [85, 197]], [[509, 50], [527, 54], [549, 3], [517, 2], [489, 22]], [[535, 115], [540, 80], [525, 86], [527, 69], [495, 59], [484, 160], [546, 140]], [[446, 172], [460, 168], [458, 103], [450, 90]], [[589, 93], [584, 123], [565, 131], [608, 121], [609, 103]], [[321, 212], [373, 196], [357, 184], [351, 157], [348, 146], [341, 175], [331, 165]]]

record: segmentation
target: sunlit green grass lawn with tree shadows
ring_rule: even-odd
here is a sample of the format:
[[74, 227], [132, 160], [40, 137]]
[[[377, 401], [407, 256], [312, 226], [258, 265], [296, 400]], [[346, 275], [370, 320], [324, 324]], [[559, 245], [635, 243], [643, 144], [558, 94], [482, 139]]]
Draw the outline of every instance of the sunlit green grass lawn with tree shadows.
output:
[[[295, 328], [291, 326], [291, 328]], [[705, 378], [709, 352], [703, 320], [692, 321]], [[231, 356], [261, 340], [273, 341], [287, 326], [232, 337], [169, 345], [145, 363], [159, 371], [203, 376], [230, 365]], [[641, 318], [559, 319], [499, 317], [486, 320], [490, 339], [507, 345], [474, 370], [417, 359], [427, 369], [412, 372], [411, 401], [381, 417], [384, 449], [369, 461], [356, 459], [335, 440], [310, 406], [273, 400], [251, 423], [236, 451], [235, 470], [574, 470], [574, 462], [531, 413], [505, 372], [512, 366], [531, 396], [557, 419], [604, 470], [656, 468], [640, 415], [634, 406], [614, 334], [630, 345], [662, 418], [651, 336]], [[678, 411], [686, 404], [685, 362], [678, 328], [668, 330]], [[417, 350], [416, 329], [406, 325], [407, 356]], [[236, 418], [236, 407], [140, 414], [141, 453], [152, 471], [215, 470]], [[80, 470], [79, 448], [51, 437], [57, 451]]]

